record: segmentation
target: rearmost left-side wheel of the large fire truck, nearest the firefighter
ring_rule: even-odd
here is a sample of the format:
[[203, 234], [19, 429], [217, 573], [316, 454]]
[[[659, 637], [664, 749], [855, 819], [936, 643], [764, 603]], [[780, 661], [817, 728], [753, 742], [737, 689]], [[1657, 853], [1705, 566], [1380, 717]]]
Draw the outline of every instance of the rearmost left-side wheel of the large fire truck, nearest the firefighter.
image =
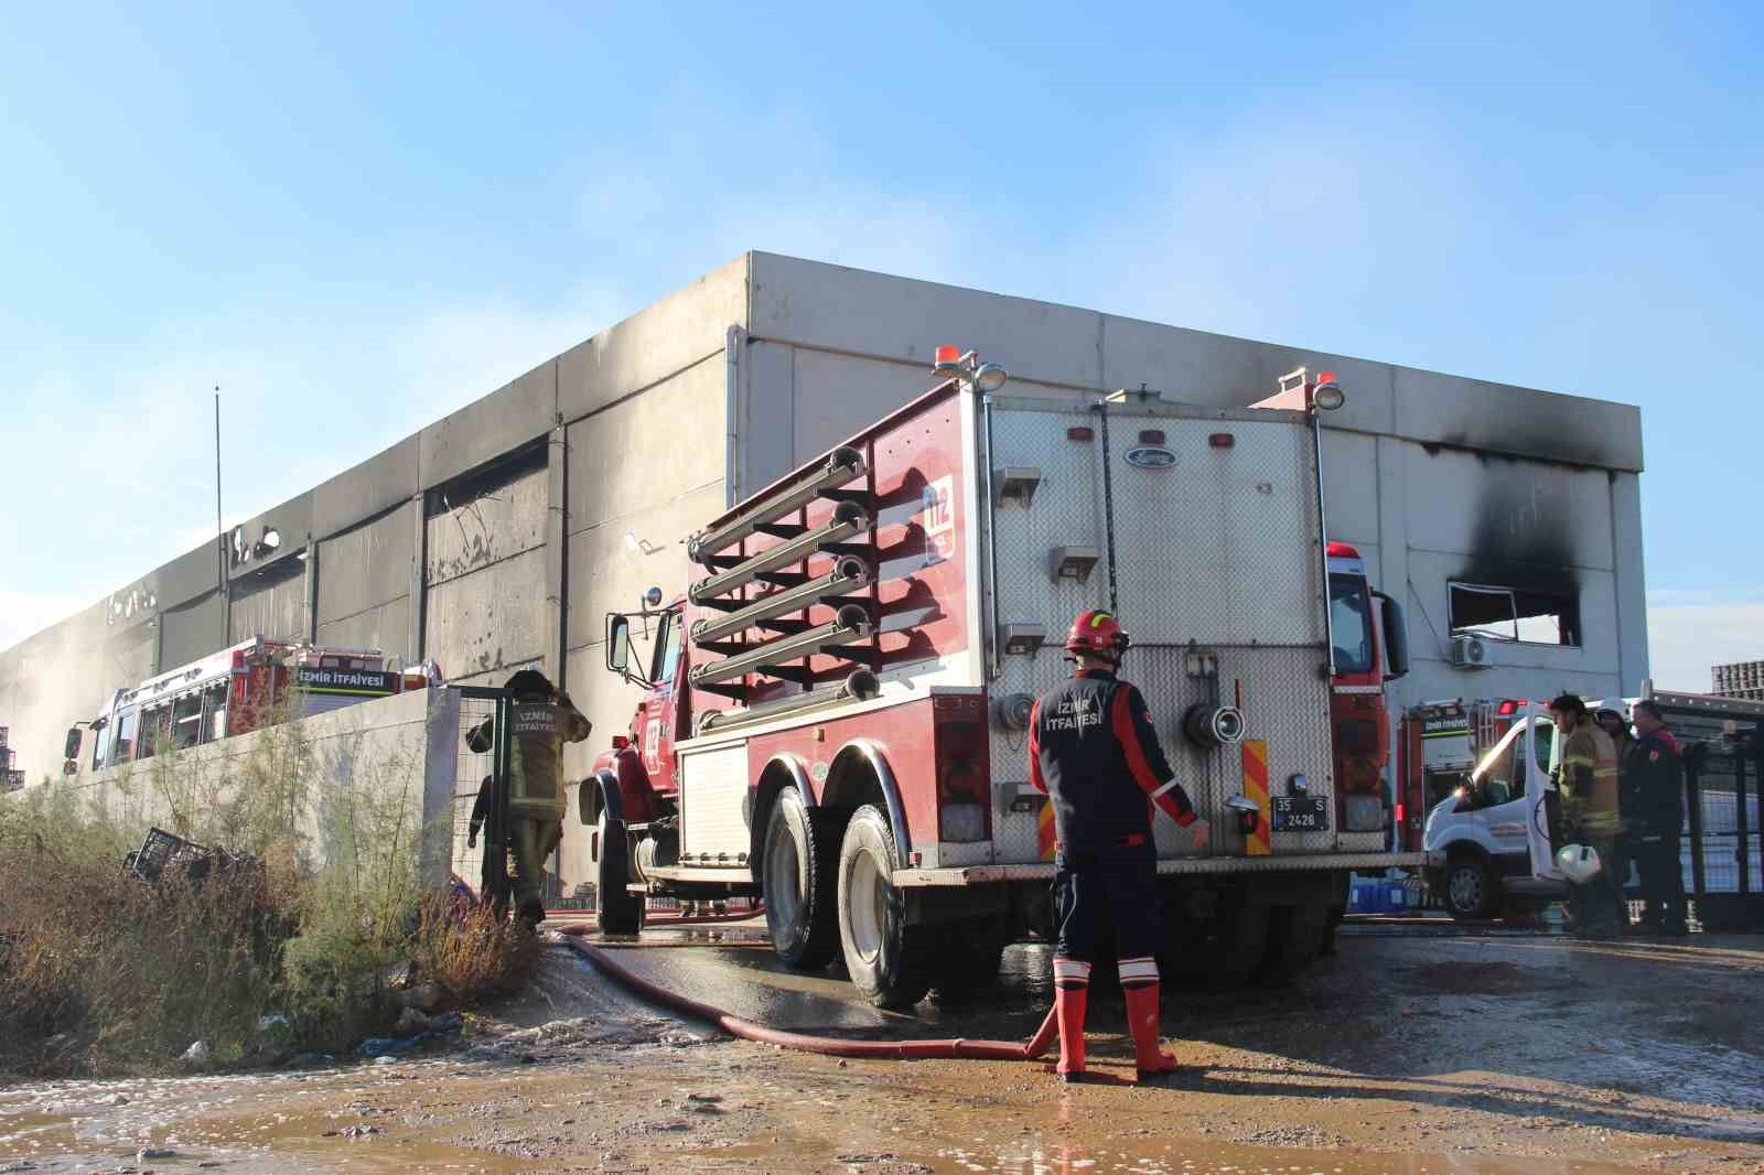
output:
[[907, 894], [894, 887], [894, 829], [864, 805], [840, 845], [840, 946], [845, 970], [877, 1007], [905, 1009], [931, 990], [933, 926], [907, 924]]

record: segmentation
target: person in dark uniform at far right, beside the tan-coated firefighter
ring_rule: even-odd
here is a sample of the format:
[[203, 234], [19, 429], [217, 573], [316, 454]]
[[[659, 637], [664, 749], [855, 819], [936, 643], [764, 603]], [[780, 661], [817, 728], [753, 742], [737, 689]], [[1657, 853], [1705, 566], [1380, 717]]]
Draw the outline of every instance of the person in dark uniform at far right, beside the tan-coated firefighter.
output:
[[1688, 933], [1685, 866], [1685, 760], [1660, 707], [1635, 702], [1635, 741], [1623, 752], [1623, 826], [1628, 856], [1641, 873], [1648, 909], [1642, 926], [1660, 935]]

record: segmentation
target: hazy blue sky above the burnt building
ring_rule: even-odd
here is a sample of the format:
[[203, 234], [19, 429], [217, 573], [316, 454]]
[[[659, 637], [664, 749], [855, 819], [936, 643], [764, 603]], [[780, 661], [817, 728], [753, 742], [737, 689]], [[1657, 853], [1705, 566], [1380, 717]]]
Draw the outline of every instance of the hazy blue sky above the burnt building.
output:
[[[1764, 656], [1757, 5], [19, 5], [0, 646], [743, 249], [1641, 404]], [[1247, 7], [1247, 5], [1245, 5]]]

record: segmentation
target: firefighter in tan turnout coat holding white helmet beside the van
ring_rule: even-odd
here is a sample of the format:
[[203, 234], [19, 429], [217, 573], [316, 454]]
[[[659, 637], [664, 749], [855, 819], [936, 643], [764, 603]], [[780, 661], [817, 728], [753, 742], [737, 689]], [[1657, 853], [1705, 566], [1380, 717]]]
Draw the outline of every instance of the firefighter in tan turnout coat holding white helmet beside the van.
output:
[[1598, 854], [1600, 870], [1586, 884], [1568, 886], [1568, 914], [1582, 935], [1607, 937], [1628, 923], [1623, 879], [1616, 873], [1618, 748], [1598, 723], [1588, 718], [1586, 702], [1563, 693], [1549, 706], [1563, 734], [1561, 775], [1556, 790], [1568, 838]]

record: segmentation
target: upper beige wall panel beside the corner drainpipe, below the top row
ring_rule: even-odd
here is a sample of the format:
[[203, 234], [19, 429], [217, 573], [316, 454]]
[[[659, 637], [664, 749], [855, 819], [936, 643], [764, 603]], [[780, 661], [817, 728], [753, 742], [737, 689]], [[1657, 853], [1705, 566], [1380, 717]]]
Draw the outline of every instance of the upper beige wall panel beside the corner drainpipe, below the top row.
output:
[[[725, 378], [718, 353], [632, 400], [570, 425], [570, 531], [630, 517], [711, 482], [721, 483]], [[720, 510], [721, 503], [706, 519]], [[653, 535], [644, 538], [662, 542]]]

